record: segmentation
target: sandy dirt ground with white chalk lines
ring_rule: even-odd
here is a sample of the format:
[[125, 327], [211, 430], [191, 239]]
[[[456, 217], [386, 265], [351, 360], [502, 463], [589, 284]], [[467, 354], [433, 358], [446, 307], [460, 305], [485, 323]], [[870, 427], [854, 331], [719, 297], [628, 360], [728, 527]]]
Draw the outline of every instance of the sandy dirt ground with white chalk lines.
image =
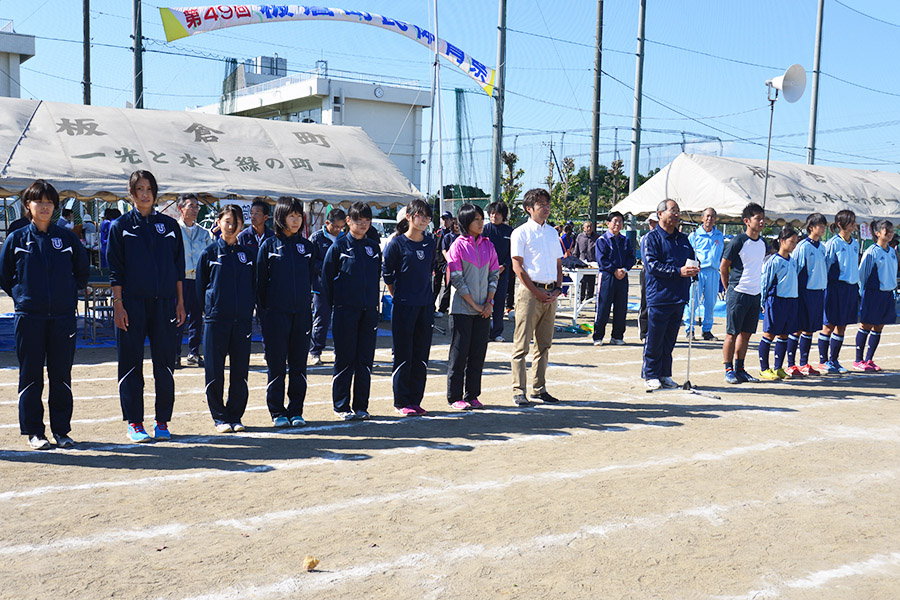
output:
[[[19, 435], [16, 359], [0, 353], [0, 597], [900, 596], [900, 327], [884, 373], [740, 386], [720, 344], [696, 343], [691, 380], [716, 398], [645, 393], [634, 316], [624, 347], [557, 335], [559, 405], [512, 404], [507, 342], [489, 347], [488, 408], [448, 410], [436, 334], [429, 415], [401, 418], [380, 337], [372, 421], [334, 420], [329, 364], [310, 368], [309, 424], [286, 430], [255, 345], [245, 433], [214, 432], [202, 370], [185, 368], [172, 441], [142, 445], [125, 438], [115, 350], [79, 350], [79, 443], [46, 452]], [[679, 381], [686, 355], [679, 341]]]

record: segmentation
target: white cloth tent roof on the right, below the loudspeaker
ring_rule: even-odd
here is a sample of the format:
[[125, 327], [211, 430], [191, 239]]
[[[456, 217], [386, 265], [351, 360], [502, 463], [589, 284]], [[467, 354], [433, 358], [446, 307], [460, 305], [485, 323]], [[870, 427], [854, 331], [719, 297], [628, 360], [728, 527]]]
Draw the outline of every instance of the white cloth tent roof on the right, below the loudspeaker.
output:
[[[764, 160], [680, 154], [613, 210], [647, 214], [671, 198], [682, 212], [712, 206], [720, 216], [740, 217], [747, 203], [762, 204], [765, 171]], [[812, 212], [830, 217], [845, 208], [858, 221], [896, 218], [900, 174], [772, 161], [765, 208], [768, 218], [787, 222], [805, 221]]]

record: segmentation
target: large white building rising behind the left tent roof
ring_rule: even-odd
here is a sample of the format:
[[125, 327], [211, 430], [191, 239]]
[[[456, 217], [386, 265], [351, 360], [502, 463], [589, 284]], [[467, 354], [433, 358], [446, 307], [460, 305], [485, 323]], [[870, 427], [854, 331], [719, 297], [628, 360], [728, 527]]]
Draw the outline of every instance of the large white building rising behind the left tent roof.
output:
[[[421, 189], [422, 110], [431, 92], [418, 81], [315, 71], [285, 76], [283, 58], [260, 56], [236, 66], [219, 104], [198, 107], [223, 115], [361, 127]], [[233, 90], [233, 91], [232, 91]]]

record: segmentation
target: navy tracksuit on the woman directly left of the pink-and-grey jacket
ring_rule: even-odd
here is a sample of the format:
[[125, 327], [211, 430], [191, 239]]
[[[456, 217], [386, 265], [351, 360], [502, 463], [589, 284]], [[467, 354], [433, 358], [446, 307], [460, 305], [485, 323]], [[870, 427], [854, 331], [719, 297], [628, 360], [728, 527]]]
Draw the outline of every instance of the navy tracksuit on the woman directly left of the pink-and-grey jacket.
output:
[[384, 282], [394, 286], [391, 336], [394, 407], [421, 406], [434, 326], [431, 266], [434, 238], [414, 242], [398, 235], [384, 249]]

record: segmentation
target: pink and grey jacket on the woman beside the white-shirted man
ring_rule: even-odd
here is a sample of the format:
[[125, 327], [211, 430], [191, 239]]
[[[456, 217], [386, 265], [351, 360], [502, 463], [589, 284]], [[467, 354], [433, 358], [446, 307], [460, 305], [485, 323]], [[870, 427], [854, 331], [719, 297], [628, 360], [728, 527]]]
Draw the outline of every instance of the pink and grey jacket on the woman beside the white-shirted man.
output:
[[462, 297], [469, 294], [476, 304], [484, 304], [488, 293], [497, 291], [500, 263], [494, 244], [483, 235], [475, 239], [461, 235], [453, 241], [447, 255], [447, 272], [453, 286], [450, 314], [477, 315]]

